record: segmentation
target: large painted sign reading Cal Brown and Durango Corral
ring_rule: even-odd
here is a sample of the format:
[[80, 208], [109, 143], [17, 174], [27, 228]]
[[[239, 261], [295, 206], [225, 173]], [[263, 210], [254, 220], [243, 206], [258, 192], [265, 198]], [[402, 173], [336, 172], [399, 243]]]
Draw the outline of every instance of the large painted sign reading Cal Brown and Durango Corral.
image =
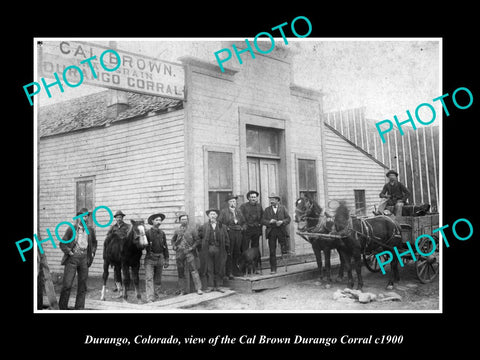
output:
[[97, 44], [43, 41], [39, 45], [38, 66], [40, 76], [45, 78], [52, 78], [54, 73], [63, 74], [70, 66], [65, 79], [74, 84], [83, 76], [83, 82], [89, 85], [173, 99], [185, 97], [185, 71], [181, 64]]

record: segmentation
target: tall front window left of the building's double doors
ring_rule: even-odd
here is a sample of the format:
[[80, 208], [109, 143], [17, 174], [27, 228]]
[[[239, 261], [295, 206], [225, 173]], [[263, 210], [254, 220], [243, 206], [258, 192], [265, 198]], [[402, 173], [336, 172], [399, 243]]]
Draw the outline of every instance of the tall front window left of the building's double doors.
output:
[[208, 152], [208, 206], [221, 209], [228, 195], [233, 194], [232, 154]]

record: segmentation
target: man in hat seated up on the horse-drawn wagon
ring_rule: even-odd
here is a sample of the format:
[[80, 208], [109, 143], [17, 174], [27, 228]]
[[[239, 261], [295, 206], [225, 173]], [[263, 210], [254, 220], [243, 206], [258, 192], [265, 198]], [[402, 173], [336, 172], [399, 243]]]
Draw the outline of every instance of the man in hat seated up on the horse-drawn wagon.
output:
[[410, 191], [405, 185], [398, 181], [398, 173], [389, 170], [386, 177], [390, 180], [383, 186], [380, 197], [386, 199], [378, 206], [378, 213], [383, 214], [385, 209], [390, 210], [395, 216], [402, 216], [402, 209], [405, 201], [410, 197]]

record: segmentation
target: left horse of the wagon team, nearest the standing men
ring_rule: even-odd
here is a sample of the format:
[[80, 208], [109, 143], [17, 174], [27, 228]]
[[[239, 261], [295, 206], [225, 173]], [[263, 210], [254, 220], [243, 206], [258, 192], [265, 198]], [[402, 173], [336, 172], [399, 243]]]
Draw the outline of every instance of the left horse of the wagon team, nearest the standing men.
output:
[[[318, 203], [309, 197], [301, 197], [295, 202], [295, 222], [298, 224], [299, 231], [306, 231], [319, 234], [328, 234], [332, 230], [333, 221], [328, 214], [322, 215], [322, 208]], [[325, 240], [318, 237], [310, 237], [308, 239], [312, 244], [313, 253], [317, 261], [318, 270], [320, 273], [320, 282], [323, 281], [324, 275], [327, 279], [327, 287], [330, 287], [331, 280], [331, 265], [330, 255], [332, 249], [336, 249], [339, 245], [337, 239]], [[325, 271], [322, 266], [322, 254], [325, 256]], [[338, 279], [343, 278], [343, 262], [342, 255], [340, 255], [340, 268]]]

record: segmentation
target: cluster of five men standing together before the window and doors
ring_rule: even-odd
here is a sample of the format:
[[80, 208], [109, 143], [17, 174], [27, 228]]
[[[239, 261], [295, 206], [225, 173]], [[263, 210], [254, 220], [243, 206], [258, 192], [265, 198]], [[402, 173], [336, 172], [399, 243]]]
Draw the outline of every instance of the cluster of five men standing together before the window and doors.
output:
[[202, 290], [223, 292], [220, 285], [224, 277], [243, 275], [238, 266], [240, 255], [250, 247], [259, 247], [263, 225], [267, 228], [271, 272], [276, 272], [277, 242], [282, 254], [286, 253], [290, 216], [276, 194], [270, 196], [271, 205], [265, 211], [257, 191], [251, 190], [246, 196], [248, 201], [241, 206], [237, 206], [238, 197], [232, 195], [227, 197], [224, 209], [208, 209], [208, 220], [199, 228], [189, 224], [187, 214], [179, 214], [180, 227], [172, 237], [172, 249], [176, 251], [181, 293], [188, 292], [190, 274], [199, 295]]

